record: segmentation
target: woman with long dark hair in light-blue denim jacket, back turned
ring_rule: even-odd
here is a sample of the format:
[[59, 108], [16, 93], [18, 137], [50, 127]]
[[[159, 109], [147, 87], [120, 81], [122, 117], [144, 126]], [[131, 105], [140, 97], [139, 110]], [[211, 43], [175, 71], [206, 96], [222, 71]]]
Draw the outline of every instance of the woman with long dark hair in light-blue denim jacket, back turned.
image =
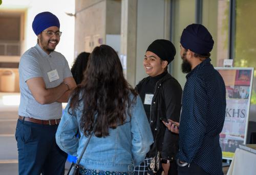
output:
[[[74, 137], [78, 128], [80, 139]], [[133, 174], [153, 142], [141, 99], [124, 79], [118, 55], [108, 45], [91, 53], [84, 79], [59, 123], [56, 141], [63, 151], [79, 156], [91, 134], [80, 162], [81, 174]]]

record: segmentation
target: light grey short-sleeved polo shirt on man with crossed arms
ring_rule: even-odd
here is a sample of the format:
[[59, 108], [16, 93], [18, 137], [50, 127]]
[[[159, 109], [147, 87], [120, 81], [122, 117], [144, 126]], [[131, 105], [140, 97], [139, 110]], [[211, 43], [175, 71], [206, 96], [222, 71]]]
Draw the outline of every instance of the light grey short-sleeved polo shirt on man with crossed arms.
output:
[[[59, 79], [50, 82], [47, 72], [55, 69]], [[42, 77], [46, 88], [58, 86], [63, 82], [63, 79], [72, 77], [66, 58], [55, 51], [48, 55], [36, 44], [23, 54], [19, 62], [20, 105], [18, 115], [42, 120], [60, 118], [62, 114], [61, 103], [54, 102], [41, 105], [36, 102], [26, 83], [27, 80], [35, 77]]]

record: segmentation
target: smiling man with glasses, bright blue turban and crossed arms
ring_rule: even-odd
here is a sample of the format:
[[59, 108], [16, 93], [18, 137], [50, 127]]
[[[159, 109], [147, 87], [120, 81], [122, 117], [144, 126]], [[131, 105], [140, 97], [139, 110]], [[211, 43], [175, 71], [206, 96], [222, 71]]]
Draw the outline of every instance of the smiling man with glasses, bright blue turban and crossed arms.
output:
[[15, 137], [19, 174], [64, 174], [67, 154], [55, 141], [62, 114], [76, 87], [66, 58], [54, 51], [61, 36], [59, 20], [50, 12], [35, 16], [37, 44], [19, 62], [20, 105]]

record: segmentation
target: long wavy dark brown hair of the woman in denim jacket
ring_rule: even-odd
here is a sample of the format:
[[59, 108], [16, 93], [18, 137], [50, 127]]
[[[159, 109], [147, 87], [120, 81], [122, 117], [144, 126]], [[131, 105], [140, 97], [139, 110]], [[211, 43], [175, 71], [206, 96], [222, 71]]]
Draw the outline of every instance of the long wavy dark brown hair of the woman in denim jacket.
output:
[[85, 136], [91, 134], [96, 124], [95, 135], [105, 137], [110, 128], [115, 129], [126, 121], [127, 116], [131, 117], [131, 105], [136, 96], [135, 90], [124, 79], [115, 50], [100, 45], [89, 57], [84, 80], [74, 90], [69, 110], [75, 115], [75, 109], [82, 107], [80, 128]]

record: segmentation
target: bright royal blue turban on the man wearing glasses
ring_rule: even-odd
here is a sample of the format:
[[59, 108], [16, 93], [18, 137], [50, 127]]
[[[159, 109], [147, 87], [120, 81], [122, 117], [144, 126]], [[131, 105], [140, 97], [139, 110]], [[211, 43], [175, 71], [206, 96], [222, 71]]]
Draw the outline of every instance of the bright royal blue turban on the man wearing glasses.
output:
[[56, 26], [59, 28], [59, 19], [57, 16], [52, 14], [51, 12], [41, 12], [38, 13], [32, 23], [32, 28], [33, 31], [35, 32], [36, 35], [41, 33], [43, 30]]

